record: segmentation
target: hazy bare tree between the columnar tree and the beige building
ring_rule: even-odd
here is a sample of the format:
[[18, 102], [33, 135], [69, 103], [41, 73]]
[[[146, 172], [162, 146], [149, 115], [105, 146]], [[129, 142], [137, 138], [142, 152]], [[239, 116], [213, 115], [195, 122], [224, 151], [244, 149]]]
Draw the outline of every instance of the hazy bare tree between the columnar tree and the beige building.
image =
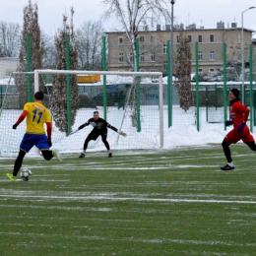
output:
[[78, 58], [82, 69], [101, 69], [101, 35], [103, 27], [100, 21], [84, 22], [76, 33]]

